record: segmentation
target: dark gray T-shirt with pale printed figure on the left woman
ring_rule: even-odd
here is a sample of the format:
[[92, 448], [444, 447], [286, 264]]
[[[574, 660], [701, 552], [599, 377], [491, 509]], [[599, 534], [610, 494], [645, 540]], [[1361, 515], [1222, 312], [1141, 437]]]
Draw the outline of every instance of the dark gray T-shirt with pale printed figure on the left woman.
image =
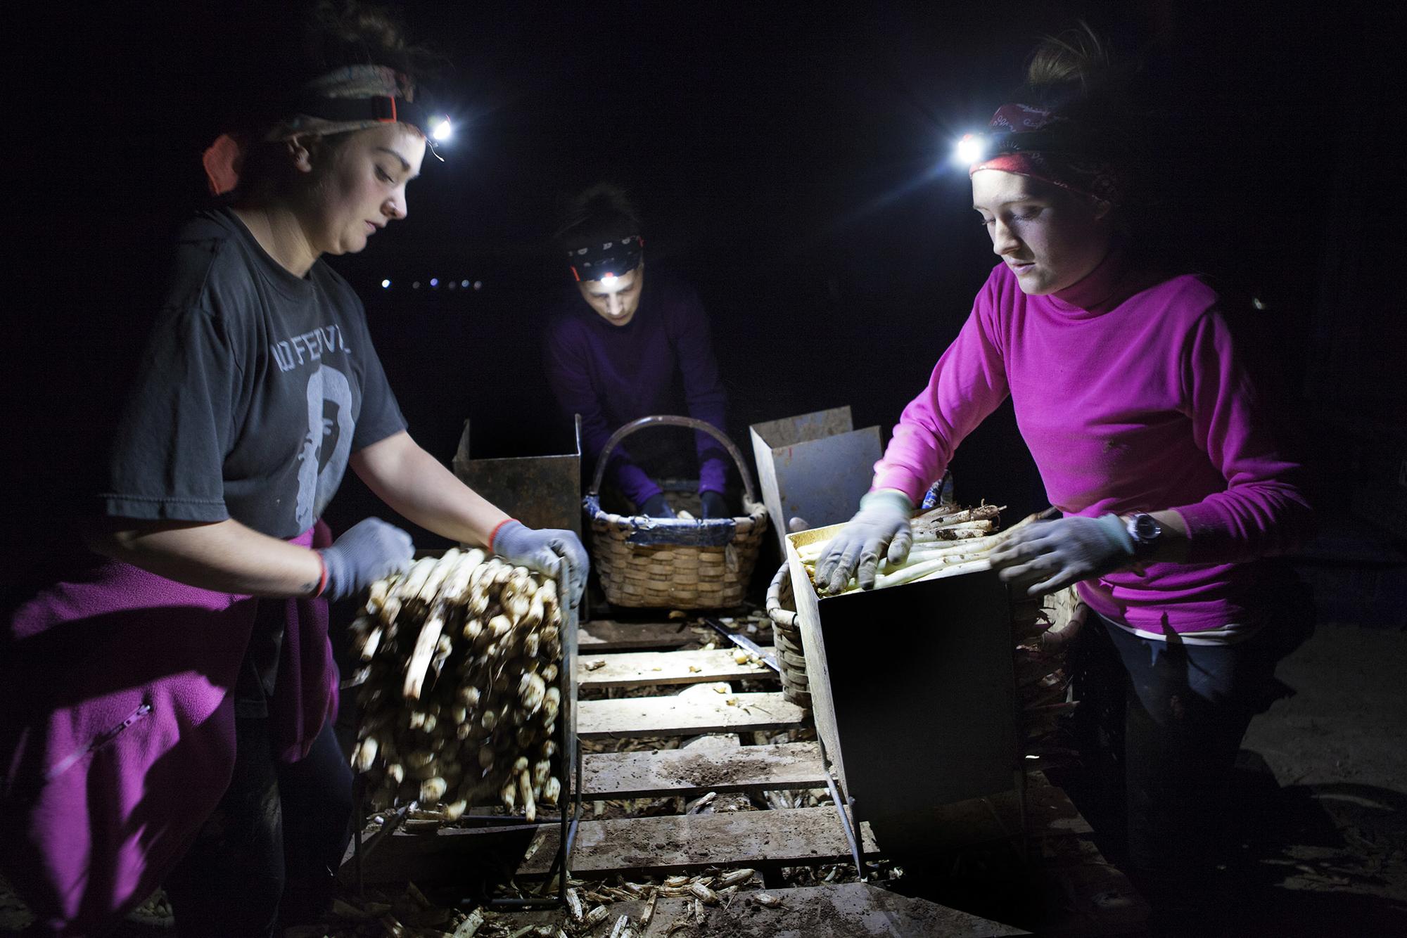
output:
[[362, 301], [276, 263], [229, 210], [187, 224], [118, 422], [103, 513], [312, 527], [348, 457], [405, 429]]

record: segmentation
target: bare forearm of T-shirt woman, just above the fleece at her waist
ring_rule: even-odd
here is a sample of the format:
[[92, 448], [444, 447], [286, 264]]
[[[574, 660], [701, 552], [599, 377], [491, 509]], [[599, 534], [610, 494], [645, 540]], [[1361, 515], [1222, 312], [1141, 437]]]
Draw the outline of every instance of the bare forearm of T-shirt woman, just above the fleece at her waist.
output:
[[84, 532], [89, 548], [201, 589], [249, 596], [310, 596], [318, 555], [235, 520], [108, 522]]

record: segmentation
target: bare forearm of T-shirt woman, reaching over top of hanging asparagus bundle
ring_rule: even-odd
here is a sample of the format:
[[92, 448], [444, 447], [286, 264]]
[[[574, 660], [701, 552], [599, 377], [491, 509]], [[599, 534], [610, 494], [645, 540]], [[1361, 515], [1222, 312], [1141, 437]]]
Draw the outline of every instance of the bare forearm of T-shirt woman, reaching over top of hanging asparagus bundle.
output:
[[350, 464], [377, 498], [440, 537], [487, 544], [508, 518], [404, 432], [353, 453]]

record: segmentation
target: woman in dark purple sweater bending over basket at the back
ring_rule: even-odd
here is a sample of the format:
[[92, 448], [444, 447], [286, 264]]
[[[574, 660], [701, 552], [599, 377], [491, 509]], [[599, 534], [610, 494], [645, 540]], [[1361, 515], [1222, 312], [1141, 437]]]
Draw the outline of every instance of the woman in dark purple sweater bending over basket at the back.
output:
[[[680, 378], [689, 416], [723, 429], [727, 398], [704, 304], [663, 271], [646, 287], [640, 219], [625, 194], [595, 186], [578, 195], [557, 240], [575, 288], [547, 325], [547, 380], [563, 415], [581, 415], [590, 464], [625, 423], [677, 413]], [[671, 442], [668, 432], [642, 430], [611, 457], [606, 480], [640, 515], [674, 516], [650, 477], [692, 468], [680, 468]], [[723, 498], [727, 454], [708, 433], [695, 433], [695, 451], [704, 518], [732, 515]]]

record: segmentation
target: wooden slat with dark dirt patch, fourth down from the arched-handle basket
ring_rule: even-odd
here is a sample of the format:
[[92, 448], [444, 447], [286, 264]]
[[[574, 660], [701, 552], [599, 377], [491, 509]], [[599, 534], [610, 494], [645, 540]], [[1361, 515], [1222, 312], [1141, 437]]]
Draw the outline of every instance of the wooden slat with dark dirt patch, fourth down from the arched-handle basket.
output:
[[694, 797], [706, 792], [826, 788], [816, 743], [715, 750], [591, 752], [581, 758], [585, 797]]

